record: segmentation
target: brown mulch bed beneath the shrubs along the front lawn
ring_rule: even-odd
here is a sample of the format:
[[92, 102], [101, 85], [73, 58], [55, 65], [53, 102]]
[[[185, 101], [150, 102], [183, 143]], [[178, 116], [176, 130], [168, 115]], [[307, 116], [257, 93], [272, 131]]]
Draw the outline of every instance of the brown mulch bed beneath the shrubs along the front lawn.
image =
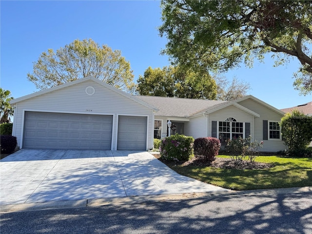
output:
[[167, 160], [164, 160], [160, 157], [160, 155], [154, 155], [158, 160], [162, 161], [169, 167], [176, 166], [176, 165], [182, 165], [182, 166], [209, 166], [209, 167], [215, 167], [215, 168], [225, 168], [225, 169], [267, 169], [271, 168], [274, 165], [269, 163], [263, 163], [263, 162], [248, 162], [248, 161], [242, 161], [240, 165], [235, 167], [234, 161], [231, 158], [223, 158], [223, 157], [217, 157], [215, 161], [212, 163], [205, 163], [200, 159], [197, 159], [193, 157], [189, 161], [186, 162], [169, 162]]

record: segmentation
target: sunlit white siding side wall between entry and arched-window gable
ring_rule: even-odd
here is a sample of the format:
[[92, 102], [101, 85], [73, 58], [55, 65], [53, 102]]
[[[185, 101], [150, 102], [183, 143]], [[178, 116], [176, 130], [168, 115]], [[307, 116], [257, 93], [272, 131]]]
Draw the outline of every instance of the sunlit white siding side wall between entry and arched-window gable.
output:
[[207, 117], [197, 116], [184, 123], [184, 135], [192, 136], [194, 139], [198, 137], [207, 137]]

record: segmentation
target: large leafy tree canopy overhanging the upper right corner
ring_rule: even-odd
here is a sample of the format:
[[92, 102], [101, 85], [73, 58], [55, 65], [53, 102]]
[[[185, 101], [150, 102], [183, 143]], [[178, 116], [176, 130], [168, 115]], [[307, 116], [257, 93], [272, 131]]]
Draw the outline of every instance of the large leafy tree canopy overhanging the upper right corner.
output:
[[299, 60], [294, 86], [312, 92], [311, 0], [162, 0], [161, 8], [174, 63], [222, 72], [273, 52], [276, 65]]

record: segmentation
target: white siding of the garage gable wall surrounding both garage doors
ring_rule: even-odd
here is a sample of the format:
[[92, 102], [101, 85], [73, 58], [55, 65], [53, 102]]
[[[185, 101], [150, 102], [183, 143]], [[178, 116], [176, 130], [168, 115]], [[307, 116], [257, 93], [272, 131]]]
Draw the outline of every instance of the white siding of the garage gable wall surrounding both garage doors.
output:
[[[88, 86], [95, 88], [95, 94], [89, 96], [85, 89]], [[113, 150], [117, 145], [117, 117], [118, 115], [133, 115], [148, 117], [147, 148], [152, 148], [153, 142], [153, 110], [145, 107], [130, 98], [126, 98], [92, 80], [87, 80], [72, 86], [65, 87], [47, 94], [21, 101], [17, 105], [18, 111], [14, 115], [14, 136], [20, 146], [23, 112], [42, 111], [77, 114], [114, 115], [113, 119]]]

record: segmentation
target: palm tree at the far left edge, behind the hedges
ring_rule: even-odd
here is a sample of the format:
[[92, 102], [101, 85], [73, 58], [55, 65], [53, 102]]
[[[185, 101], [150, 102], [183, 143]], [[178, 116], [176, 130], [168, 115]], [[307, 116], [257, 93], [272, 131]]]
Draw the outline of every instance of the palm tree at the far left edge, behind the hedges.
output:
[[1, 114], [0, 114], [0, 123], [9, 123], [13, 116], [13, 108], [10, 104], [10, 100], [13, 100], [11, 92], [9, 90], [4, 90], [0, 88], [0, 101], [1, 101]]

